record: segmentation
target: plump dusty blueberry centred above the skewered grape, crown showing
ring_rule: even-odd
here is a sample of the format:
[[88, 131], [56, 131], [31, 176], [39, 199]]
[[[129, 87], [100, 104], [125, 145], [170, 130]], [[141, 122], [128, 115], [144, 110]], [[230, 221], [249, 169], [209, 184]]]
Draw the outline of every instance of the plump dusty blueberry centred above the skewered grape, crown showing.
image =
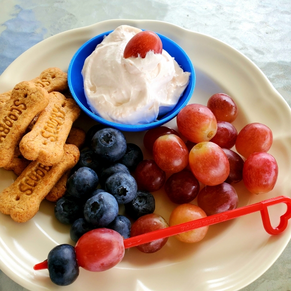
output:
[[100, 192], [87, 200], [84, 216], [94, 227], [108, 226], [118, 214], [118, 204], [113, 195]]

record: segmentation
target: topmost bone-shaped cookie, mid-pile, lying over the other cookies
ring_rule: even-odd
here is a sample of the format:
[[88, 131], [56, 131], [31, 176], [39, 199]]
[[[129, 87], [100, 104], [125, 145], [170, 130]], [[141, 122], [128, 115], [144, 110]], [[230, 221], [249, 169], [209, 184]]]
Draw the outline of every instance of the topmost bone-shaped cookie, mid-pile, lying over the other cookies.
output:
[[19, 144], [22, 155], [47, 166], [60, 162], [66, 138], [80, 112], [74, 99], [66, 99], [59, 92], [49, 93], [49, 105]]

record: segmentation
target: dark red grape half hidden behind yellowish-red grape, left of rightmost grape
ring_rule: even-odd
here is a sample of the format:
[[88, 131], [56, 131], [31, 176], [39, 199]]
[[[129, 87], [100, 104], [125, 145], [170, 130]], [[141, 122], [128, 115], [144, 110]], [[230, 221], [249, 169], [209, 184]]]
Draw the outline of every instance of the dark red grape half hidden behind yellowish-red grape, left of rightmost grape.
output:
[[242, 168], [244, 164], [242, 157], [231, 149], [223, 148], [222, 150], [226, 154], [230, 167], [229, 175], [225, 182], [228, 184], [238, 183], [242, 180]]

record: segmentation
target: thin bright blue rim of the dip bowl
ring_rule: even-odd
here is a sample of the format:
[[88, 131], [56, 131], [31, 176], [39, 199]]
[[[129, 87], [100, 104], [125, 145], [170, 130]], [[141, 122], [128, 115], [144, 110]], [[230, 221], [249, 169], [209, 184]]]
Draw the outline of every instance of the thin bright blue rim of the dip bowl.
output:
[[[100, 33], [94, 37], [92, 37], [91, 39], [89, 39], [88, 41], [86, 41], [73, 55], [71, 61], [70, 61], [70, 64], [68, 66], [68, 75], [67, 75], [67, 80], [68, 80], [68, 87], [69, 87], [69, 90], [70, 90], [70, 93], [72, 94], [72, 97], [74, 98], [74, 100], [76, 101], [76, 103], [81, 107], [82, 111], [84, 111], [87, 115], [89, 115], [91, 118], [93, 118], [95, 121], [101, 123], [101, 124], [104, 124], [108, 127], [113, 127], [113, 128], [116, 128], [116, 129], [120, 129], [120, 130], [124, 130], [124, 131], [143, 131], [143, 130], [148, 130], [148, 129], [152, 129], [152, 128], [156, 128], [156, 127], [159, 127], [159, 126], [162, 126], [163, 124], [169, 122], [170, 120], [172, 120], [173, 118], [175, 118], [179, 111], [185, 107], [187, 105], [187, 103], [189, 102], [190, 98], [192, 97], [193, 95], [193, 92], [194, 92], [194, 88], [195, 88], [195, 83], [196, 83], [196, 75], [195, 75], [195, 70], [194, 70], [194, 66], [192, 64], [192, 61], [190, 60], [189, 56], [187, 55], [187, 53], [184, 51], [184, 49], [182, 49], [176, 42], [174, 42], [173, 40], [171, 40], [170, 38], [162, 35], [161, 33], [157, 33], [155, 32], [157, 35], [162, 36], [162, 38], [165, 38], [167, 39], [168, 42], [170, 42], [172, 45], [176, 46], [180, 52], [183, 54], [183, 56], [185, 57], [187, 63], [190, 65], [190, 81], [189, 81], [189, 84], [187, 85], [187, 87], [185, 88], [185, 90], [188, 88], [188, 86], [191, 86], [190, 87], [190, 91], [189, 91], [189, 94], [187, 96], [187, 98], [184, 100], [184, 102], [173, 112], [171, 113], [170, 115], [168, 115], [167, 117], [165, 117], [164, 119], [162, 120], [158, 120], [158, 121], [153, 121], [151, 123], [146, 123], [146, 124], [141, 124], [141, 125], [127, 125], [127, 124], [119, 124], [119, 123], [115, 123], [115, 122], [112, 122], [112, 121], [109, 121], [109, 120], [106, 120], [96, 114], [94, 114], [92, 111], [88, 110], [80, 101], [79, 97], [77, 97], [77, 95], [75, 94], [75, 91], [73, 90], [73, 84], [72, 84], [72, 80], [71, 80], [71, 74], [73, 72], [72, 70], [72, 67], [73, 67], [73, 64], [74, 62], [76, 61], [76, 59], [78, 58], [79, 56], [79, 53], [80, 51], [85, 48], [88, 44], [90, 44], [91, 42], [94, 42], [96, 38], [99, 38], [100, 36], [106, 36], [108, 35], [109, 33], [113, 32], [112, 31], [108, 31], [108, 32], [103, 32], [103, 33]], [[179, 65], [179, 64], [178, 64]], [[184, 90], [184, 91], [185, 91]], [[183, 93], [184, 94], [184, 93]], [[176, 104], [177, 106], [177, 104]], [[175, 106], [175, 107], [176, 107]], [[172, 109], [174, 110], [175, 107]], [[168, 114], [168, 113], [166, 113]]]

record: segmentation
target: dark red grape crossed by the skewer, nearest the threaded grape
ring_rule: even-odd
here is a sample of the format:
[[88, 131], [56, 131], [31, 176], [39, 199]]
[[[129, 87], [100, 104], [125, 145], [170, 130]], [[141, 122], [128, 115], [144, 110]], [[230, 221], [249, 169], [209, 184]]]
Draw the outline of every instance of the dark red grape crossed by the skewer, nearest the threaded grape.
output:
[[[131, 226], [130, 236], [137, 236], [150, 231], [168, 227], [168, 223], [159, 214], [146, 214], [136, 220]], [[137, 248], [143, 253], [155, 253], [160, 250], [167, 242], [168, 238], [147, 242], [138, 245]]]

